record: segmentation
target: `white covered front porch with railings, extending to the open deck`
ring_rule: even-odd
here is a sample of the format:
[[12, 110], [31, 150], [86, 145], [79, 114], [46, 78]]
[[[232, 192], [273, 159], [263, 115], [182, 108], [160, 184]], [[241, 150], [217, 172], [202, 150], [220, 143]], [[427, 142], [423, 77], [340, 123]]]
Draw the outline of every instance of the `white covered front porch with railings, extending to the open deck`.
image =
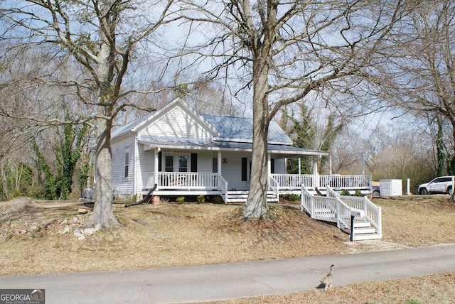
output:
[[[251, 143], [188, 141], [139, 141], [142, 195], [154, 188], [154, 196], [220, 195], [224, 202], [245, 202], [250, 188]], [[313, 151], [287, 145], [267, 147], [267, 200], [279, 202], [280, 195], [301, 194], [302, 187], [311, 191], [359, 190], [371, 193], [371, 175], [320, 175], [318, 162], [324, 151]], [[312, 174], [288, 174], [287, 160], [311, 158]], [[329, 162], [330, 163], [330, 162]], [[149, 164], [153, 164], [150, 166]], [[331, 168], [329, 168], [331, 171]], [[138, 185], [138, 186], [139, 186]], [[156, 185], [156, 188], [155, 188]]]

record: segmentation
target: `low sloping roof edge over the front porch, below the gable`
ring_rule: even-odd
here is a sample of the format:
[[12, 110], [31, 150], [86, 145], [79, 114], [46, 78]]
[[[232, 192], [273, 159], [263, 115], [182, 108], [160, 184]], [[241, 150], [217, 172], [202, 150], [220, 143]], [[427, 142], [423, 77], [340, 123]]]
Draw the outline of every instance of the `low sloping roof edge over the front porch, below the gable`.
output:
[[[242, 143], [233, 141], [210, 141], [210, 140], [195, 140], [195, 139], [181, 139], [170, 137], [149, 137], [146, 139], [139, 139], [139, 143], [144, 144], [146, 149], [151, 148], [172, 148], [183, 150], [211, 150], [211, 151], [242, 151], [252, 152], [252, 143]], [[325, 151], [316, 151], [303, 148], [296, 148], [293, 146], [269, 144], [267, 150], [270, 154], [282, 156], [287, 158], [300, 157], [300, 156], [328, 156]]]

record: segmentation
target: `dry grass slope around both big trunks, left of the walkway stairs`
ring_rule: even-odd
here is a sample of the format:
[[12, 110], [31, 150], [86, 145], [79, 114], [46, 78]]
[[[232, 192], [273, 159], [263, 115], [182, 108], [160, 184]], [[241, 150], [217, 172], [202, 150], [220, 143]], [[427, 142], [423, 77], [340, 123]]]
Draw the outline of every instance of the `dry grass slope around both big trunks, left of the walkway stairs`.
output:
[[[89, 217], [78, 214], [82, 205], [51, 204], [1, 203], [0, 254], [9, 258], [0, 260], [0, 275], [215, 264], [347, 250], [346, 234], [289, 207], [272, 207], [272, 222], [242, 222], [238, 205], [116, 204], [114, 214], [122, 227], [80, 240], [73, 232]], [[62, 233], [65, 227], [70, 231]]]

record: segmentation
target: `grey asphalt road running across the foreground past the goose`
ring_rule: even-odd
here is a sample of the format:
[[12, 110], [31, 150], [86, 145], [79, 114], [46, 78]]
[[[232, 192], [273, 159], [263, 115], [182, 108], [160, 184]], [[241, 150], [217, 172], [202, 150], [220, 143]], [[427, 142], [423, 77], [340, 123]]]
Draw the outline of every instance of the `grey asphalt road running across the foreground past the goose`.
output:
[[0, 276], [0, 288], [45, 289], [45, 303], [197, 303], [455, 271], [455, 244], [243, 263]]

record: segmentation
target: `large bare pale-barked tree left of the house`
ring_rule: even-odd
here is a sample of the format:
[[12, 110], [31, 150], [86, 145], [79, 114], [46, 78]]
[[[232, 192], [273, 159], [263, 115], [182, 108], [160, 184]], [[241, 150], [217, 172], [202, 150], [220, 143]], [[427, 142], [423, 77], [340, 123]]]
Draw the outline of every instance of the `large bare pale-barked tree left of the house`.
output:
[[[85, 119], [95, 126], [97, 185], [90, 226], [118, 224], [112, 212], [112, 121], [129, 105], [124, 97], [134, 92], [122, 86], [130, 61], [161, 24], [171, 21], [172, 4], [173, 0], [1, 1], [3, 39], [11, 40], [11, 45], [48, 47], [55, 60], [69, 54], [84, 72], [61, 82], [75, 88], [93, 116], [61, 122]], [[9, 115], [7, 109], [1, 113]]]

